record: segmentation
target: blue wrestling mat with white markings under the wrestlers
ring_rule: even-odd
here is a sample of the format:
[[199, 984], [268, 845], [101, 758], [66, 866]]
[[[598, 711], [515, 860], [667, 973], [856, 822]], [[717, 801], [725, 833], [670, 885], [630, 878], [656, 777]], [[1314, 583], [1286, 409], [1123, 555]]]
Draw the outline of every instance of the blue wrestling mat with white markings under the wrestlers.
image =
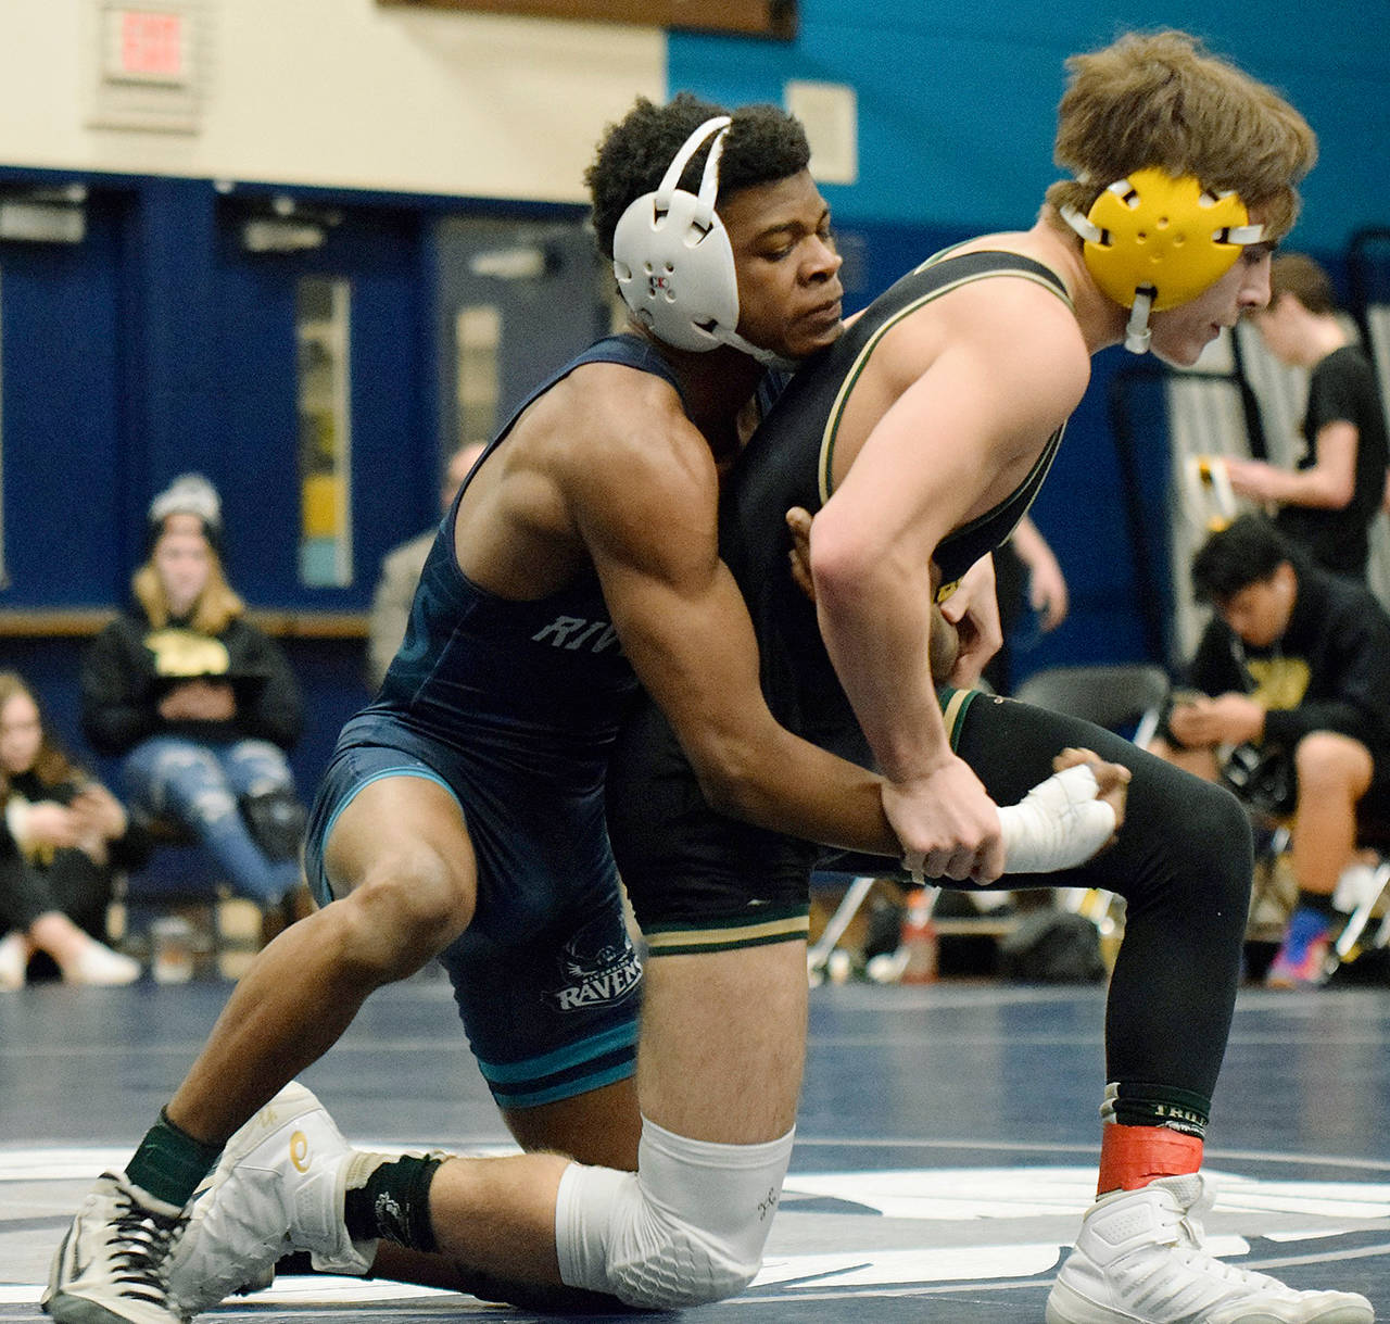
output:
[[[218, 983], [0, 994], [0, 1324], [44, 1318], [49, 1256], [81, 1196], [129, 1156], [225, 996]], [[813, 990], [796, 1152], [764, 1270], [735, 1300], [682, 1317], [1041, 1324], [1094, 1189], [1102, 1014], [1094, 987]], [[509, 1147], [443, 980], [377, 994], [303, 1079], [354, 1142]], [[1387, 1122], [1390, 990], [1244, 992], [1208, 1136], [1220, 1189], [1209, 1249], [1300, 1288], [1362, 1292], [1390, 1320]], [[541, 1317], [288, 1277], [207, 1318]]]

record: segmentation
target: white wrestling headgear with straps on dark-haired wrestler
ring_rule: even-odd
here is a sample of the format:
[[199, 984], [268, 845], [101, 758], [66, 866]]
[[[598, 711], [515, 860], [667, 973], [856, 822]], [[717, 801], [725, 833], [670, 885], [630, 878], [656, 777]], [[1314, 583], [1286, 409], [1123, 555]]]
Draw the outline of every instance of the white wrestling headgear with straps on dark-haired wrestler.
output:
[[[674, 349], [730, 345], [760, 363], [777, 355], [738, 334], [738, 273], [724, 223], [714, 211], [719, 159], [728, 115], [706, 120], [676, 153], [656, 192], [628, 204], [613, 231], [613, 274], [623, 302], [652, 334]], [[689, 159], [714, 135], [699, 195], [680, 188]]]

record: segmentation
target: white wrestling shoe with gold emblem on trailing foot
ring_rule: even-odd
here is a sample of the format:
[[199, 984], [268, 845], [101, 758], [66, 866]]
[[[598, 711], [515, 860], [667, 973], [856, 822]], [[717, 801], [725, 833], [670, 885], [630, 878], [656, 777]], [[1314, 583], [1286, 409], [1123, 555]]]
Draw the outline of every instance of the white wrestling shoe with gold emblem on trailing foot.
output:
[[314, 1268], [361, 1275], [377, 1242], [343, 1224], [350, 1171], [379, 1154], [354, 1150], [303, 1085], [286, 1085], [227, 1142], [193, 1196], [188, 1231], [170, 1264], [170, 1295], [185, 1316], [270, 1286], [275, 1261], [307, 1250]]

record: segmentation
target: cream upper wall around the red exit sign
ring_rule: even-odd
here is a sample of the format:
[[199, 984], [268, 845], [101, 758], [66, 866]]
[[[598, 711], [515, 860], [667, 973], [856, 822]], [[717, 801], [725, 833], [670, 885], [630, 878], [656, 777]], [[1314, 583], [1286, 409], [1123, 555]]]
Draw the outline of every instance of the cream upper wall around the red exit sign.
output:
[[202, 0], [196, 131], [100, 128], [99, 7], [0, 6], [0, 164], [573, 202], [603, 125], [666, 92], [655, 28]]

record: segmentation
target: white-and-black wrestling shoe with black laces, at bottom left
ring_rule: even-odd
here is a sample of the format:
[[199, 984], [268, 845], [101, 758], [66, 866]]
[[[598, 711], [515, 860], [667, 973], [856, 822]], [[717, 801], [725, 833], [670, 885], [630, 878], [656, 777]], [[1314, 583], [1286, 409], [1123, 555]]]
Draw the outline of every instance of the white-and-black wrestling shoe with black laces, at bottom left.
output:
[[183, 1324], [168, 1273], [186, 1222], [125, 1177], [103, 1174], [53, 1257], [39, 1305], [60, 1324]]

